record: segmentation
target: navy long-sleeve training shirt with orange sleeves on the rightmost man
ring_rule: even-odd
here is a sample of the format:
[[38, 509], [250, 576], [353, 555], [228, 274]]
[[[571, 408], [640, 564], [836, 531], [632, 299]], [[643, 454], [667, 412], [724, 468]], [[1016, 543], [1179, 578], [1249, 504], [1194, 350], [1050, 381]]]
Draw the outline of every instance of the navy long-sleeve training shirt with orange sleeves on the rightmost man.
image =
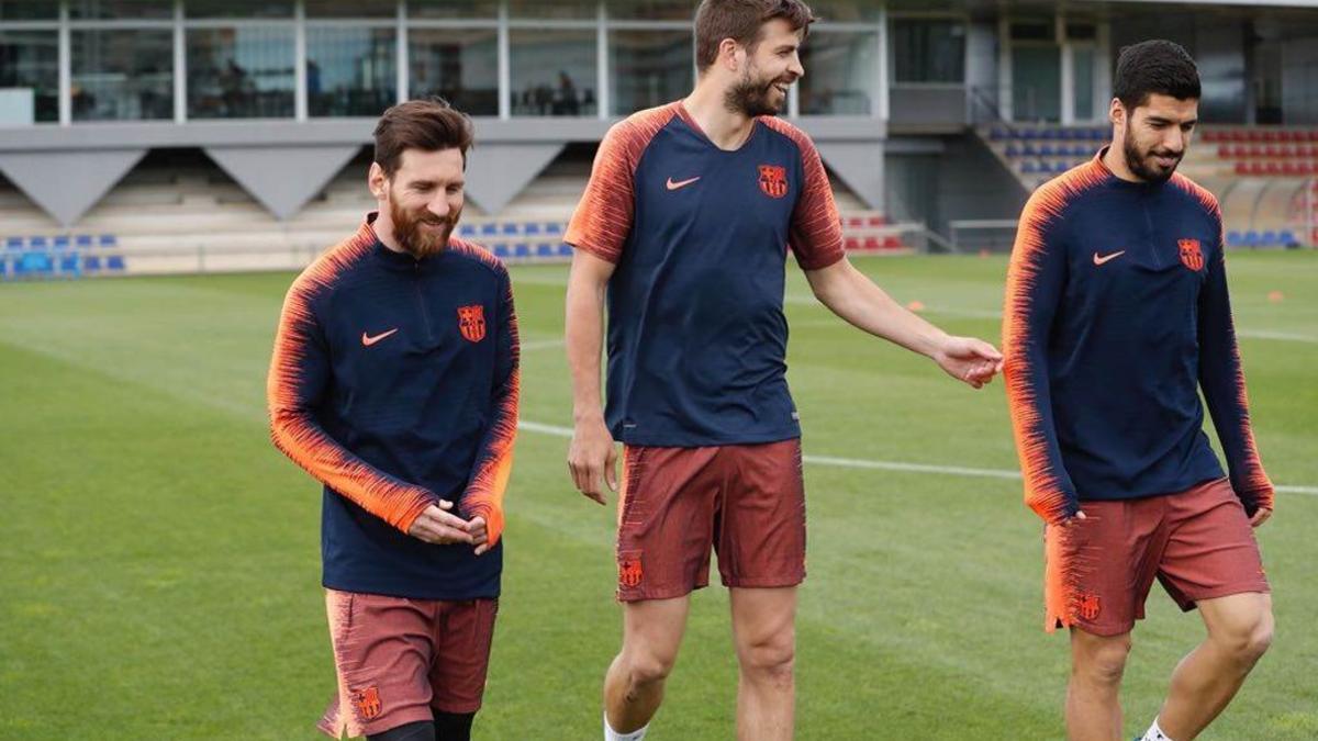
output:
[[1272, 506], [1222, 212], [1188, 178], [1123, 181], [1099, 153], [1035, 191], [1007, 274], [1003, 351], [1025, 501], [1044, 519], [1220, 477], [1199, 389], [1246, 510]]

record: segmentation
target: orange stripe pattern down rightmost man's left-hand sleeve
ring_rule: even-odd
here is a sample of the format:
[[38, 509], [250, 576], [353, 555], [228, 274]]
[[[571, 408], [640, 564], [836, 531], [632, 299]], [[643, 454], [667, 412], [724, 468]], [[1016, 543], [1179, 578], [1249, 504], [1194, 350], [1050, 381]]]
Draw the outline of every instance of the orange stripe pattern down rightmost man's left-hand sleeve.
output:
[[1046, 380], [1032, 380], [1036, 370], [1032, 356], [1044, 352], [1044, 348], [1032, 347], [1032, 343], [1043, 341], [1044, 338], [1033, 338], [1028, 323], [1046, 248], [1046, 228], [1061, 216], [1070, 200], [1101, 183], [1103, 175], [1102, 165], [1095, 160], [1035, 191], [1020, 215], [1007, 269], [1002, 347], [1011, 426], [1025, 479], [1025, 504], [1049, 522], [1056, 522], [1065, 514], [1068, 494], [1062, 475], [1052, 463], [1056, 451], [1050, 450], [1050, 435], [1045, 429], [1052, 422], [1044, 419], [1043, 402], [1037, 396], [1039, 386], [1046, 384]]

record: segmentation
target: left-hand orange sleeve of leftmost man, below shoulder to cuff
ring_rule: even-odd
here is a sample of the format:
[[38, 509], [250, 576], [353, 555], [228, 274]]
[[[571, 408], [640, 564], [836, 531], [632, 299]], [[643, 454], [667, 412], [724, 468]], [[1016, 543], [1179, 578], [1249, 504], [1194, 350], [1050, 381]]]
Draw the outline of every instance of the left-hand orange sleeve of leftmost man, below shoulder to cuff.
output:
[[330, 349], [314, 295], [332, 277], [335, 261], [312, 264], [289, 290], [266, 380], [270, 438], [294, 463], [366, 512], [406, 533], [436, 497], [365, 463], [331, 438], [315, 409], [330, 385]]

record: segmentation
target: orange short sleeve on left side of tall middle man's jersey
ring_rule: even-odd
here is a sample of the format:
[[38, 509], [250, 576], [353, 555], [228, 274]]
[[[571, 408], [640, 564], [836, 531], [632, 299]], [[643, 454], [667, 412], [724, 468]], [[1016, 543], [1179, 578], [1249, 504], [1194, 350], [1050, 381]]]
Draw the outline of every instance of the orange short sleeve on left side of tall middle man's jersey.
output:
[[679, 105], [670, 103], [633, 113], [609, 129], [563, 241], [609, 262], [622, 258], [635, 211], [637, 165], [659, 129], [677, 115]]

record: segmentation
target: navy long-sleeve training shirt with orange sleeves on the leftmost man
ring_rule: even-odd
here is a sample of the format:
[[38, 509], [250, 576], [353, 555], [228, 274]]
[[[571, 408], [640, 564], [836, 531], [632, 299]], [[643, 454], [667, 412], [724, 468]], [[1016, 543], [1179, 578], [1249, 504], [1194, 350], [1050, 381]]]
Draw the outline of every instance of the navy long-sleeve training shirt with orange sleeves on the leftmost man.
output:
[[[268, 385], [275, 447], [324, 483], [323, 583], [464, 600], [500, 593], [518, 407], [507, 270], [459, 239], [415, 260], [368, 216], [289, 289]], [[407, 535], [448, 500], [492, 550]]]

